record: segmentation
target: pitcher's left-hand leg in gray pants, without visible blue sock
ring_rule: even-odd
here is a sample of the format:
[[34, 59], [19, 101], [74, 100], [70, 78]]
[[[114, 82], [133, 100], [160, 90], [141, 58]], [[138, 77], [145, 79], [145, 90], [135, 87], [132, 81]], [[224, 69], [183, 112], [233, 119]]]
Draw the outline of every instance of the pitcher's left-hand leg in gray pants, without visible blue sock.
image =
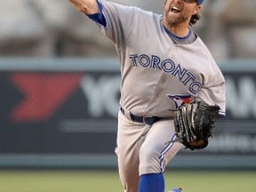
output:
[[138, 192], [139, 151], [149, 126], [132, 123], [122, 113], [118, 114], [117, 148], [119, 177], [126, 192]]

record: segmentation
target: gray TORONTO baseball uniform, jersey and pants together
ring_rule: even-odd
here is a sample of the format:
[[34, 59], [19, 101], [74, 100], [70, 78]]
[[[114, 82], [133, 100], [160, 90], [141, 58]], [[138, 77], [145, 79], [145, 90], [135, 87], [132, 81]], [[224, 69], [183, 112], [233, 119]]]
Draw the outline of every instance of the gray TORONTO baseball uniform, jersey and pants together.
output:
[[[163, 15], [100, 1], [105, 18], [101, 31], [115, 44], [121, 68], [124, 115], [118, 114], [117, 148], [120, 178], [126, 191], [137, 191], [139, 175], [164, 172], [180, 150], [173, 114], [190, 100], [220, 106], [225, 116], [225, 80], [202, 40], [190, 29], [187, 38], [166, 31]], [[160, 116], [155, 124], [133, 122], [136, 116]]]

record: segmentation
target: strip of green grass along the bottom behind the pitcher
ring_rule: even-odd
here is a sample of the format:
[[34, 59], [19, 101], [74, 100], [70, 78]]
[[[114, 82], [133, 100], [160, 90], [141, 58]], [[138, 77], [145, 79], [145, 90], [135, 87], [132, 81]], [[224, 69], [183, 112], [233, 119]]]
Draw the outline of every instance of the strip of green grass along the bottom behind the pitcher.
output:
[[[165, 172], [166, 191], [254, 192], [256, 172]], [[0, 171], [1, 192], [123, 192], [117, 171]]]

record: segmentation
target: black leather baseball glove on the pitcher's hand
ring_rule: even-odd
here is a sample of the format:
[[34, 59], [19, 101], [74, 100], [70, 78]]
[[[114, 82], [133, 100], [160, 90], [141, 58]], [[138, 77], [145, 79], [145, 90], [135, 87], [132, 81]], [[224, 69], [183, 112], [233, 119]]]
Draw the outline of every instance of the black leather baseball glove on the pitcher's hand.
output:
[[191, 150], [206, 148], [219, 110], [218, 105], [208, 105], [203, 100], [183, 105], [174, 113], [177, 137], [172, 142], [179, 141]]

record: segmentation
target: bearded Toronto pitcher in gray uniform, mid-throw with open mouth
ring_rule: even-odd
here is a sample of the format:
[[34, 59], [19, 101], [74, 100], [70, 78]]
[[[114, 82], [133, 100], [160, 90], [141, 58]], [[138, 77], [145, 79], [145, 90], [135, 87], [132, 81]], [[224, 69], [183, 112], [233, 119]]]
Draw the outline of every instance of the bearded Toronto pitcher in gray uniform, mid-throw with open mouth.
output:
[[166, 165], [183, 146], [205, 148], [225, 116], [224, 77], [191, 28], [204, 0], [166, 0], [161, 15], [105, 0], [69, 2], [116, 45], [116, 155], [124, 191], [164, 192]]

